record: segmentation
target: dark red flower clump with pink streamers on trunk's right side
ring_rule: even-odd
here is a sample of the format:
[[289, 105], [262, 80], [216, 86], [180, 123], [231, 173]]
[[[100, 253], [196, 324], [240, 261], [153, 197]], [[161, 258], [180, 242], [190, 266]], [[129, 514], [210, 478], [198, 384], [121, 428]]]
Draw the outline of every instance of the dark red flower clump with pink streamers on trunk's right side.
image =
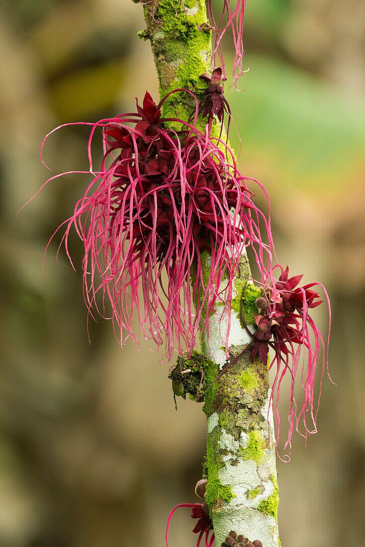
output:
[[[256, 300], [258, 314], [254, 315], [257, 330], [248, 329], [244, 317], [244, 293], [241, 301], [241, 319], [252, 341], [239, 356], [246, 351], [250, 352], [251, 362], [258, 356], [263, 363], [268, 362], [269, 347], [274, 350], [274, 358], [269, 365], [276, 365], [276, 375], [272, 383], [270, 405], [276, 418], [276, 443], [279, 440], [280, 417], [277, 410], [280, 386], [283, 377], [289, 374], [291, 377], [289, 388], [289, 431], [285, 447], [291, 447], [291, 437], [294, 424], [298, 430], [299, 422], [303, 421], [304, 437], [316, 432], [317, 409], [314, 408], [314, 380], [320, 348], [322, 348], [322, 374], [325, 370], [326, 350], [322, 336], [313, 319], [308, 313], [310, 308], [320, 305], [323, 300], [318, 300], [318, 293], [312, 287], [320, 286], [324, 290], [328, 302], [329, 322], [331, 325], [331, 308], [325, 288], [320, 283], [310, 283], [303, 287], [297, 287], [302, 279], [301, 275], [288, 277], [288, 266], [284, 270], [281, 265], [275, 266], [281, 270], [279, 280], [262, 288], [262, 296]], [[301, 359], [302, 356], [302, 359]], [[303, 401], [298, 412], [294, 398], [294, 381], [300, 361], [302, 360], [301, 381], [303, 385]], [[231, 364], [231, 361], [229, 364]], [[274, 404], [275, 399], [275, 404]], [[319, 398], [318, 398], [319, 403]], [[306, 416], [310, 416], [310, 426]]]

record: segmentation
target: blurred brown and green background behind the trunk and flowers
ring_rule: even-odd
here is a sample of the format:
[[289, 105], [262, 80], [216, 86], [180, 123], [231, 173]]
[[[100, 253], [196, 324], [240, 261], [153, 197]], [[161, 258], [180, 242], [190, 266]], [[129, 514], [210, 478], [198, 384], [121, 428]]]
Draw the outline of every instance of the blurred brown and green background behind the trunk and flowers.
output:
[[[49, 176], [39, 146], [53, 127], [158, 97], [143, 28], [129, 0], [1, 2], [1, 547], [160, 547], [171, 508], [198, 501], [204, 414], [192, 401], [175, 411], [168, 366], [144, 341], [122, 352], [100, 318], [89, 345], [76, 236], [77, 271], [63, 248], [56, 265], [56, 237], [41, 284], [45, 243], [88, 177], [51, 182], [16, 217]], [[250, 70], [228, 95], [279, 259], [325, 283], [333, 308], [337, 386], [324, 377], [318, 434], [306, 447], [295, 436], [291, 463], [278, 462], [284, 547], [365, 545], [364, 37], [362, 0], [250, 0]], [[49, 140], [55, 173], [87, 168], [86, 137], [68, 127]], [[324, 310], [316, 319], [326, 329]], [[175, 515], [171, 547], [195, 545], [193, 524]]]

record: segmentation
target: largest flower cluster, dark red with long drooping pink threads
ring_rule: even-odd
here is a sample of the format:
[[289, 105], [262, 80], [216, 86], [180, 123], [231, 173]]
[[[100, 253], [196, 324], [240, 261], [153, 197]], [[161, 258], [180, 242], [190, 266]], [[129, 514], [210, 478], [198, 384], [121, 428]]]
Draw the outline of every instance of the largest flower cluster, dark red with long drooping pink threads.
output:
[[[96, 306], [101, 315], [111, 315], [121, 344], [128, 336], [136, 340], [136, 313], [146, 339], [164, 345], [161, 353], [170, 359], [175, 348], [192, 351], [200, 321], [207, 327], [216, 301], [230, 317], [233, 278], [245, 247], [253, 248], [262, 281], [271, 277], [273, 241], [270, 222], [254, 205], [230, 149], [210, 137], [208, 126], [205, 134], [195, 129], [198, 101], [192, 125], [161, 118], [163, 102], [157, 106], [146, 92], [136, 113], [92, 126], [89, 158], [95, 176], [63, 224], [68, 256], [72, 226], [84, 243], [90, 313]], [[182, 129], [169, 129], [170, 121]], [[105, 155], [95, 172], [91, 140], [97, 127]], [[201, 261], [205, 249], [211, 253], [207, 280]], [[228, 282], [222, 290], [224, 277]]]

